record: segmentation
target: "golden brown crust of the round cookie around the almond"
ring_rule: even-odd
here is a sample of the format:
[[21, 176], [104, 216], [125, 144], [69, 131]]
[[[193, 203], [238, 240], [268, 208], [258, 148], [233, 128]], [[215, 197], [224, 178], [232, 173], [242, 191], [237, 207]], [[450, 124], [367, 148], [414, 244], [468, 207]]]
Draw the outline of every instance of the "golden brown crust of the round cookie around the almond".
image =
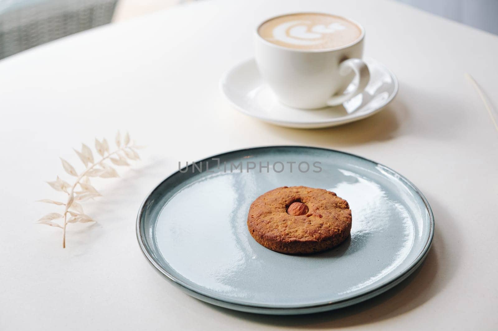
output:
[[[307, 213], [287, 208], [304, 203]], [[293, 210], [292, 210], [293, 209]], [[291, 212], [306, 210], [295, 204]], [[304, 254], [333, 248], [351, 232], [351, 210], [336, 193], [306, 186], [283, 186], [260, 195], [249, 208], [248, 229], [262, 246], [281, 253]]]

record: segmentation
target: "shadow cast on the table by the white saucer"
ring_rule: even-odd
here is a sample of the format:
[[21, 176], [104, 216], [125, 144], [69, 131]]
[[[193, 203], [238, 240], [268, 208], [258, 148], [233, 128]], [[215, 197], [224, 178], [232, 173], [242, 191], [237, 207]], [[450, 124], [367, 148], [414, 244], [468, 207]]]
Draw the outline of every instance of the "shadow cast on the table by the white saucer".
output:
[[[291, 129], [260, 122], [258, 126], [268, 135], [285, 138], [290, 144], [326, 146], [328, 148], [354, 146], [371, 142], [382, 142], [400, 135], [423, 137], [424, 139], [452, 139], [465, 128], [468, 114], [455, 113], [458, 105], [449, 98], [441, 103], [437, 93], [420, 91], [403, 84], [403, 93], [417, 103], [408, 107], [402, 98], [395, 97], [377, 114], [349, 124], [324, 129]], [[403, 126], [402, 130], [399, 130]], [[453, 130], [443, 130], [445, 127]]]

